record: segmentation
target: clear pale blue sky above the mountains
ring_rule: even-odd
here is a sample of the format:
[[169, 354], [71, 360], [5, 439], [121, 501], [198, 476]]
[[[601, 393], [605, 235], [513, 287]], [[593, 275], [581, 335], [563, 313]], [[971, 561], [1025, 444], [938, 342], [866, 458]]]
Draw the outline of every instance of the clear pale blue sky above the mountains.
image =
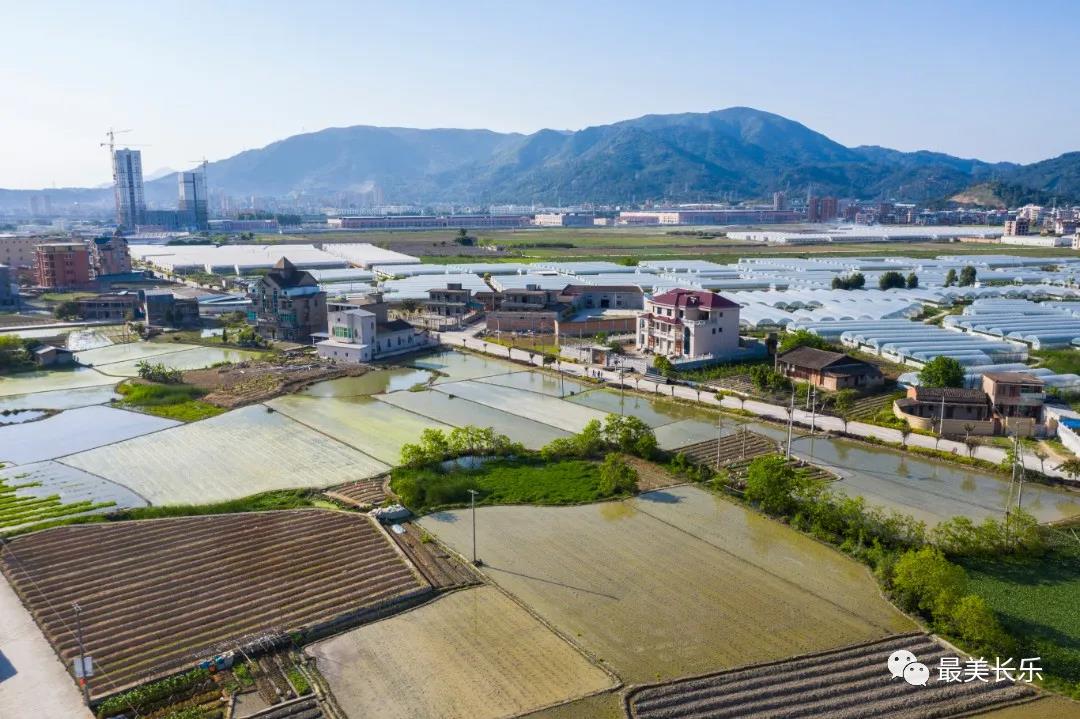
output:
[[[1080, 149], [1080, 2], [0, 0], [0, 188], [356, 124], [578, 130], [748, 106], [848, 146]], [[1053, 38], [1059, 41], [1051, 41]]]

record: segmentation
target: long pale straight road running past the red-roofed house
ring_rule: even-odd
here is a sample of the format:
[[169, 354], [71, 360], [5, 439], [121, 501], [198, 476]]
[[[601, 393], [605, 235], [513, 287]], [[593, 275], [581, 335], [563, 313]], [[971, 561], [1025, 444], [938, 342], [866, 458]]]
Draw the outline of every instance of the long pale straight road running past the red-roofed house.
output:
[[[483, 339], [475, 337], [476, 333], [480, 331], [481, 326], [477, 325], [460, 333], [443, 333], [442, 341], [443, 344], [448, 347], [465, 347], [470, 350], [475, 350], [477, 352], [484, 352], [497, 357], [504, 357], [510, 360], [517, 360], [521, 362], [526, 362], [534, 364], [538, 367], [543, 366], [543, 360], [537, 353], [530, 353], [525, 350], [510, 349], [502, 347], [501, 344], [495, 344], [492, 342], [485, 342]], [[555, 367], [549, 367], [554, 369]], [[609, 369], [604, 369], [600, 367], [580, 365], [571, 362], [562, 362], [558, 368], [566, 372], [567, 375], [577, 377], [594, 377], [596, 379], [602, 379], [607, 382], [618, 382], [619, 372], [611, 371]], [[690, 399], [693, 402], [700, 402], [706, 405], [717, 405], [728, 408], [728, 409], [744, 409], [746, 411], [758, 415], [759, 417], [765, 417], [778, 421], [787, 421], [787, 407], [781, 407], [778, 405], [770, 405], [765, 402], [758, 402], [756, 399], [742, 399], [734, 396], [725, 396], [723, 401], [717, 401], [712, 392], [694, 390], [690, 386], [685, 386], [681, 384], [659, 384], [651, 382], [647, 379], [642, 379], [640, 376], [634, 374], [627, 374], [625, 376], [625, 383], [632, 385], [638, 391], [650, 392], [653, 394], [676, 397], [681, 399]], [[824, 430], [827, 432], [842, 432], [856, 437], [867, 437], [873, 439], [878, 439], [881, 442], [888, 442], [890, 444], [899, 445], [904, 440], [903, 434], [900, 430], [893, 430], [891, 428], [878, 426], [876, 424], [865, 424], [863, 422], [845, 422], [839, 417], [829, 417], [823, 415], [813, 416], [804, 409], [795, 409], [794, 421], [796, 424], [810, 426], [811, 422], [813, 426], [819, 430]], [[907, 435], [907, 445], [912, 447], [923, 447], [926, 449], [939, 449], [941, 451], [951, 452], [954, 455], [959, 455], [961, 457], [968, 456], [968, 447], [962, 442], [954, 442], [951, 439], [939, 439], [937, 437], [930, 437], [922, 434], [912, 434]], [[986, 460], [987, 462], [993, 462], [995, 464], [1000, 463], [1005, 458], [1005, 450], [1001, 447], [988, 447], [980, 446], [975, 448], [976, 459]], [[1029, 470], [1040, 471], [1040, 462], [1037, 457], [1025, 455], [1024, 465]], [[1049, 475], [1064, 477], [1065, 475], [1050, 466], [1050, 463], [1045, 466], [1045, 473]]]

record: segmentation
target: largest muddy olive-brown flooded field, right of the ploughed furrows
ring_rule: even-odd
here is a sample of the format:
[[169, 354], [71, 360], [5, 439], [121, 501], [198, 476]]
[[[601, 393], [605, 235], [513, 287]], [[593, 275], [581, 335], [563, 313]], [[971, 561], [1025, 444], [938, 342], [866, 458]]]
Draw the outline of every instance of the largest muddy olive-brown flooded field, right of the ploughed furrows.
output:
[[[685, 516], [710, 524], [688, 527]], [[468, 512], [421, 524], [471, 551]], [[484, 507], [477, 548], [485, 573], [627, 682], [915, 628], [856, 562], [693, 487], [573, 507]]]

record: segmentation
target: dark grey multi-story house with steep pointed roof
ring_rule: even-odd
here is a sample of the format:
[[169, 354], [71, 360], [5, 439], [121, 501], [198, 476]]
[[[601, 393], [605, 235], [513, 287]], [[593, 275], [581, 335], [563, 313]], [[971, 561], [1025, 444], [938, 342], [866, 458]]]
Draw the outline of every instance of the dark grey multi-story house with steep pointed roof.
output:
[[261, 336], [307, 344], [325, 331], [326, 293], [282, 257], [255, 285], [252, 314]]

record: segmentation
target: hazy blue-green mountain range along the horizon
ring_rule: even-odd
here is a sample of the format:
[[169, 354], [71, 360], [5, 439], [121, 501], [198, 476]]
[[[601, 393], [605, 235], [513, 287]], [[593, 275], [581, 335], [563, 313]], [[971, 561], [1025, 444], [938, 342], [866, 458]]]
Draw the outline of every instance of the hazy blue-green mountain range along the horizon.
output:
[[[210, 164], [212, 190], [244, 196], [330, 198], [378, 187], [388, 203], [567, 204], [765, 199], [774, 190], [947, 202], [971, 188], [1001, 202], [1080, 200], [1080, 152], [1028, 165], [846, 147], [778, 114], [745, 107], [650, 114], [568, 132], [355, 125], [295, 135]], [[111, 202], [98, 189], [49, 190], [53, 205]], [[176, 178], [146, 184], [175, 203]], [[22, 195], [22, 196], [19, 196]], [[97, 196], [100, 195], [100, 196]], [[0, 190], [0, 207], [24, 193]]]

